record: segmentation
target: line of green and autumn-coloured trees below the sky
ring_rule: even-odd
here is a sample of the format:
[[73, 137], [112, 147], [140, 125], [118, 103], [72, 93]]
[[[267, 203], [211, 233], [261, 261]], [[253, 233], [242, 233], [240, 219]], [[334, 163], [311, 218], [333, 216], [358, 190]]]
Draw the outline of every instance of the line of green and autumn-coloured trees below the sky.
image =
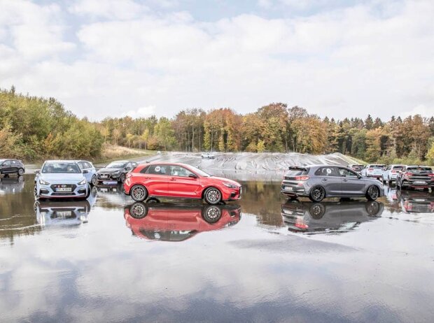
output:
[[186, 152], [341, 152], [369, 162], [434, 164], [434, 117], [384, 121], [321, 118], [305, 108], [271, 103], [241, 115], [230, 108], [181, 110], [167, 117], [78, 119], [55, 99], [0, 91], [0, 154], [97, 157], [104, 143]]

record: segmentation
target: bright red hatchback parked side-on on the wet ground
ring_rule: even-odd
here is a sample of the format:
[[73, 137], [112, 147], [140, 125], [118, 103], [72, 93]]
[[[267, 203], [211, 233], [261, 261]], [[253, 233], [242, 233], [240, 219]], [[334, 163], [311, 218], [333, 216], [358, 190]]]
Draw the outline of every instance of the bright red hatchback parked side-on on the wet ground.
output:
[[127, 173], [125, 194], [134, 201], [148, 197], [204, 199], [209, 204], [241, 199], [241, 184], [179, 163], [141, 164]]

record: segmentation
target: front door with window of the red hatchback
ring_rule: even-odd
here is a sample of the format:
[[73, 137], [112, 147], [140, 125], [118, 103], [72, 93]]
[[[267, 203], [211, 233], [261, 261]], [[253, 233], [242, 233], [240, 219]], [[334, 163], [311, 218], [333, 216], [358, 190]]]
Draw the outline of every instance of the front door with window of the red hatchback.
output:
[[185, 167], [171, 165], [168, 189], [171, 196], [196, 199], [200, 197], [200, 179]]

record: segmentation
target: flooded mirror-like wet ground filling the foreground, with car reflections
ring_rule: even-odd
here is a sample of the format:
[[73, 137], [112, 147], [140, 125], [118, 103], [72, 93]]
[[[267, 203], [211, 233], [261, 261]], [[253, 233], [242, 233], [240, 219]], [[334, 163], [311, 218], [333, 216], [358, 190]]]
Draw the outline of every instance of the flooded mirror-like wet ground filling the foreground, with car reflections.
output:
[[434, 194], [40, 201], [0, 179], [1, 322], [432, 322]]

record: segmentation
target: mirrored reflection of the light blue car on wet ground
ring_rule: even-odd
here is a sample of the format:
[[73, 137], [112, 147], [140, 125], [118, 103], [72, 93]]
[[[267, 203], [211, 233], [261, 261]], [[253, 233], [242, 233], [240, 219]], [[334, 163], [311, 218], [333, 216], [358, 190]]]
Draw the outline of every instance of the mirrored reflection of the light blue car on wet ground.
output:
[[87, 223], [90, 209], [96, 201], [96, 187], [85, 200], [35, 201], [36, 221], [41, 227], [75, 226]]

